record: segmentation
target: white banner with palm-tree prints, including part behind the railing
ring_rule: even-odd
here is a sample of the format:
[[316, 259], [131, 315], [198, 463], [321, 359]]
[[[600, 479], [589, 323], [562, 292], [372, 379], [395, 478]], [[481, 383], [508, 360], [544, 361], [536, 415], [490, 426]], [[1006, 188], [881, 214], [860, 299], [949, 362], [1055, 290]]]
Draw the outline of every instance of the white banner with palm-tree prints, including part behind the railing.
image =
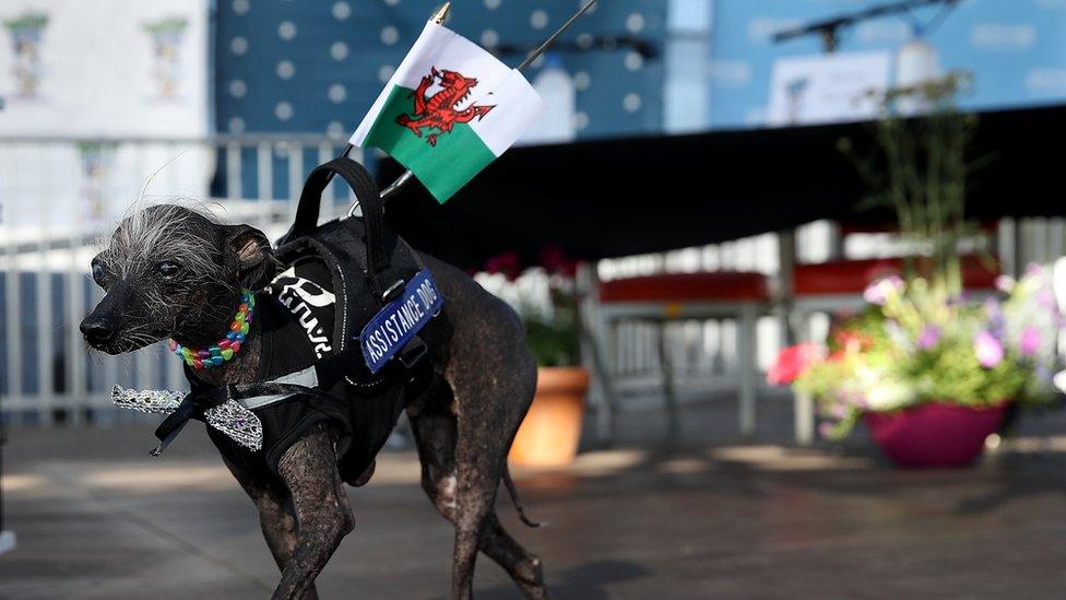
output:
[[213, 155], [181, 140], [209, 132], [208, 8], [0, 2], [0, 238], [106, 225], [164, 165], [146, 198], [206, 198]]

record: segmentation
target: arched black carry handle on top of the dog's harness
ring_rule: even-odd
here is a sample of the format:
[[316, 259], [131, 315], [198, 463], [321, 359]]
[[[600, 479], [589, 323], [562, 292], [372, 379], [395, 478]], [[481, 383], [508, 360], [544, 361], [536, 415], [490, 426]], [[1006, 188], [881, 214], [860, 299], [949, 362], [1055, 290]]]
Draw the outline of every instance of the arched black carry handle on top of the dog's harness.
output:
[[300, 192], [293, 226], [281, 238], [280, 243], [292, 242], [318, 226], [322, 192], [330, 185], [333, 174], [340, 175], [347, 181], [355, 193], [355, 199], [363, 207], [363, 242], [366, 244], [367, 250], [367, 275], [371, 289], [376, 292], [375, 295], [380, 296], [383, 286], [378, 278], [381, 271], [388, 267], [384, 256], [384, 205], [377, 184], [374, 183], [374, 178], [366, 167], [359, 163], [345, 156], [339, 156], [315, 167], [315, 170], [307, 176], [307, 180], [304, 183], [304, 191]]

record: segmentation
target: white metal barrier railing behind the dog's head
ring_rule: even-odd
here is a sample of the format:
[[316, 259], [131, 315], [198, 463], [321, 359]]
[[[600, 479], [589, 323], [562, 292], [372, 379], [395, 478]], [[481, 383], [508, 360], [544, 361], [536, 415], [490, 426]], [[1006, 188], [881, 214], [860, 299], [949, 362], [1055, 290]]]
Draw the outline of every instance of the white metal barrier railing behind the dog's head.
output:
[[[0, 416], [134, 420], [111, 410], [115, 383], [182, 389], [180, 363], [162, 344], [111, 357], [82, 341], [78, 323], [102, 297], [88, 278], [99, 236], [143, 192], [144, 202], [189, 197], [275, 238], [307, 173], [343, 144], [310, 136], [0, 138]], [[343, 183], [331, 186], [321, 219], [342, 214], [351, 200]]]

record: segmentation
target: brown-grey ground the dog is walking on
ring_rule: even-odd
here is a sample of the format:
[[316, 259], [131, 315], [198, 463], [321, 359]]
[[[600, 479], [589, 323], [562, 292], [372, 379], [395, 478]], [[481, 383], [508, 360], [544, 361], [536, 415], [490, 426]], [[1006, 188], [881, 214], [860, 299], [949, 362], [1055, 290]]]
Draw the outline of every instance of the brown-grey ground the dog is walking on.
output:
[[[786, 415], [787, 404], [763, 402]], [[568, 469], [519, 471], [530, 530], [558, 598], [1066, 597], [1066, 421], [1023, 423], [980, 466], [900, 471], [862, 444], [791, 449], [786, 416], [737, 444], [732, 409], [630, 413], [620, 444]], [[862, 435], [856, 436], [862, 438]], [[14, 430], [3, 478], [0, 598], [266, 598], [277, 573], [250, 502], [196, 425], [161, 459], [152, 426]], [[714, 444], [712, 444], [714, 442]], [[410, 451], [350, 492], [357, 526], [323, 598], [443, 598], [452, 534]], [[478, 561], [479, 598], [519, 598]]]

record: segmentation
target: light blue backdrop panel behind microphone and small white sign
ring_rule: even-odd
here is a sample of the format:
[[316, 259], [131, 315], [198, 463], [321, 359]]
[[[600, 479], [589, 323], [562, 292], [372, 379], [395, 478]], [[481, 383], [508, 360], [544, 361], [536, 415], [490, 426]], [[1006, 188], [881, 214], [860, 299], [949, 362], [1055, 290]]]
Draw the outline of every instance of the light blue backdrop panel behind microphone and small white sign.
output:
[[[883, 4], [886, 0], [714, 0], [709, 57], [710, 127], [758, 125], [778, 57], [821, 52], [817, 38], [770, 42], [778, 30]], [[939, 8], [914, 12], [924, 24]], [[840, 51], [897, 49], [912, 21], [890, 16], [848, 30]], [[970, 71], [968, 108], [1066, 102], [1066, 0], [962, 0], [927, 38], [946, 69]]]

